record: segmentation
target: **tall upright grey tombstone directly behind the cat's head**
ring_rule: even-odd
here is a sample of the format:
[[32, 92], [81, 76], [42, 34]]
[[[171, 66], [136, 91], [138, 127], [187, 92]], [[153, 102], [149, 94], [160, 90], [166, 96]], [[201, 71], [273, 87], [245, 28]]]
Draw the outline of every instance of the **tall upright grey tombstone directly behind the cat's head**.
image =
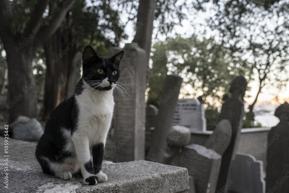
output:
[[[124, 50], [118, 85], [125, 91], [114, 89], [114, 162], [144, 159], [146, 52], [137, 43], [125, 44]], [[108, 55], [119, 51], [110, 48]]]

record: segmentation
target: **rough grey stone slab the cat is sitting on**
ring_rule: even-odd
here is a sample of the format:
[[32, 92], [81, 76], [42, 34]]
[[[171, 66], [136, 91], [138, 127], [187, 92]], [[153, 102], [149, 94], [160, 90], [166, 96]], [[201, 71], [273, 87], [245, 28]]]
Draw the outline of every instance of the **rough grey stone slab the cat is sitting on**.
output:
[[9, 186], [3, 187], [4, 138], [0, 137], [3, 150], [0, 162], [0, 192], [188, 192], [188, 170], [177, 166], [138, 160], [122, 163], [104, 161], [103, 172], [108, 181], [94, 186], [83, 184], [79, 175], [64, 181], [52, 175], [44, 174], [34, 152], [35, 142], [16, 139], [9, 140]]

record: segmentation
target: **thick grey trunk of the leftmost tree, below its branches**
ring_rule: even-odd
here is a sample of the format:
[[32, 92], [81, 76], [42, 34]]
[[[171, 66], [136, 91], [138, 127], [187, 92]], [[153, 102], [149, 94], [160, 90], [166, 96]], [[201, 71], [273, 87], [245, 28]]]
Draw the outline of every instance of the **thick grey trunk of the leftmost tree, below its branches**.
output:
[[9, 102], [5, 106], [10, 113], [9, 123], [13, 122], [19, 115], [37, 118], [37, 98], [35, 84], [38, 80], [33, 78], [32, 49], [22, 49], [18, 53], [15, 47], [18, 45], [10, 41], [6, 44], [6, 58], [8, 65]]

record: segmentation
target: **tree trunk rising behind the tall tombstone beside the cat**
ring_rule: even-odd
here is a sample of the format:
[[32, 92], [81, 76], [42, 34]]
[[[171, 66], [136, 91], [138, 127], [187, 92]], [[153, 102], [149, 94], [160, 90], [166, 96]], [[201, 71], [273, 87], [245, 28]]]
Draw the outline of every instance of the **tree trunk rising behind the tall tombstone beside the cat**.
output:
[[147, 52], [147, 80], [149, 76], [149, 58], [151, 53], [151, 36], [153, 34], [153, 20], [157, 0], [140, 0], [136, 24], [136, 35], [133, 42]]

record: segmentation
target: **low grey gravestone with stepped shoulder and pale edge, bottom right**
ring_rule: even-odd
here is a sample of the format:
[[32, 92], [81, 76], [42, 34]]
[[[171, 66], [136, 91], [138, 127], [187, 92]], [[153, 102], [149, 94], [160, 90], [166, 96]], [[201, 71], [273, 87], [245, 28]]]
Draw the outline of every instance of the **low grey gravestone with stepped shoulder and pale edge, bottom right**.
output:
[[263, 193], [263, 161], [256, 160], [251, 154], [236, 153], [228, 179], [232, 182], [228, 189], [233, 192]]

